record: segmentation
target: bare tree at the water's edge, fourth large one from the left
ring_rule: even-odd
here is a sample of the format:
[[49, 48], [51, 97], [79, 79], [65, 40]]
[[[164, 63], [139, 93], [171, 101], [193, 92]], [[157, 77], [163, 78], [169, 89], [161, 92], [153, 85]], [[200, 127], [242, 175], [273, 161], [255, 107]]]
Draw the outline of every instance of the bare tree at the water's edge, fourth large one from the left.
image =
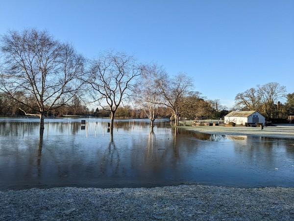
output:
[[172, 111], [175, 126], [179, 124], [179, 116], [185, 105], [184, 98], [188, 95], [192, 86], [192, 79], [184, 73], [179, 73], [172, 79], [166, 74], [165, 78], [158, 84], [160, 92], [165, 99], [164, 105]]

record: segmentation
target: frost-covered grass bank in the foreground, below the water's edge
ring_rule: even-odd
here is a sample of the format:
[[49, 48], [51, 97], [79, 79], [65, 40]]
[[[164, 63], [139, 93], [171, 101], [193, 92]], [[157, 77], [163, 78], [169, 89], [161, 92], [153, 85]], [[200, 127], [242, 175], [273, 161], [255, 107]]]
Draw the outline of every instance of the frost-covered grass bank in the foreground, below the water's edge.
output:
[[177, 186], [0, 192], [0, 220], [294, 220], [294, 188]]

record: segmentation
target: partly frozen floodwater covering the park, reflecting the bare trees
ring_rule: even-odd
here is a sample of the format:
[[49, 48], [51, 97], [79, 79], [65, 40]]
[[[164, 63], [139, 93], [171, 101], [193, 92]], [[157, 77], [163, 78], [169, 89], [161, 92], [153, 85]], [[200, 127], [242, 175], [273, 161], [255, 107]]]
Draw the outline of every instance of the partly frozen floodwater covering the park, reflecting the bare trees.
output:
[[0, 118], [0, 190], [208, 184], [294, 187], [294, 139], [194, 133], [155, 121]]

